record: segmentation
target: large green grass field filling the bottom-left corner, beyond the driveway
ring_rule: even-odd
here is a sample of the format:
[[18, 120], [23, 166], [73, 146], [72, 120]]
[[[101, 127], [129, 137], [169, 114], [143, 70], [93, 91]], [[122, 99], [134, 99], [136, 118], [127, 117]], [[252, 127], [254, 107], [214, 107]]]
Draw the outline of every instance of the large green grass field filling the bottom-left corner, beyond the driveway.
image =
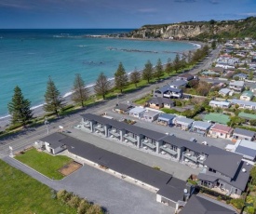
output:
[[0, 213], [76, 213], [76, 209], [52, 199], [47, 185], [0, 160]]

